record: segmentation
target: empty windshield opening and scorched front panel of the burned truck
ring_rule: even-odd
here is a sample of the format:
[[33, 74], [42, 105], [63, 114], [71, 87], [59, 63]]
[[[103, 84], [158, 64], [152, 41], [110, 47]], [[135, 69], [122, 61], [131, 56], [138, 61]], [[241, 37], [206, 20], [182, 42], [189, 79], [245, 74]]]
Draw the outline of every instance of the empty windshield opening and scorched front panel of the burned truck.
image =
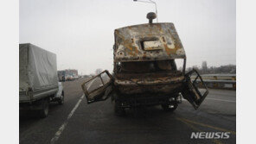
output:
[[185, 81], [172, 59], [121, 62], [120, 66], [114, 75], [114, 86], [120, 95], [170, 95]]

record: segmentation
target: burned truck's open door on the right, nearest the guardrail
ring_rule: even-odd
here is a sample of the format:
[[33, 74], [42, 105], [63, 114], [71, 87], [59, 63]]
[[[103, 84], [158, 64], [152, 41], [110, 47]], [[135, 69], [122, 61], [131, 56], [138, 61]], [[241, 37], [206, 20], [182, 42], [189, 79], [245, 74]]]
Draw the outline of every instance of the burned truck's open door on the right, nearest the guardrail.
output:
[[[194, 75], [193, 75], [194, 74]], [[191, 76], [195, 76], [195, 79], [191, 79]], [[186, 81], [183, 85], [182, 96], [189, 101], [197, 110], [202, 101], [208, 95], [208, 88], [202, 81], [200, 74], [193, 69], [185, 74]], [[201, 89], [198, 89], [198, 85], [201, 85]]]

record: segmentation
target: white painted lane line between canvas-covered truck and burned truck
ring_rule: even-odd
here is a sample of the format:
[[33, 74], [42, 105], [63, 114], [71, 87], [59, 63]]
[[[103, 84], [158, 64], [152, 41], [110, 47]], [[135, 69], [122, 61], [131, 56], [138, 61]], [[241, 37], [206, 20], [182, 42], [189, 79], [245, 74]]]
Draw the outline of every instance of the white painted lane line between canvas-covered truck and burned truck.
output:
[[69, 115], [67, 116], [67, 120], [61, 125], [61, 127], [58, 129], [58, 131], [55, 133], [54, 137], [52, 138], [52, 140], [50, 141], [51, 144], [54, 144], [55, 141], [57, 141], [59, 139], [59, 137], [61, 136], [61, 133], [63, 132], [64, 128], [67, 126], [67, 122], [68, 120], [71, 118], [71, 116], [73, 116], [74, 111], [78, 108], [78, 106], [80, 105], [80, 102], [82, 101], [82, 99], [85, 97], [85, 95], [82, 95], [79, 99], [79, 101], [75, 104], [73, 110], [71, 110], [71, 112], [69, 113]]

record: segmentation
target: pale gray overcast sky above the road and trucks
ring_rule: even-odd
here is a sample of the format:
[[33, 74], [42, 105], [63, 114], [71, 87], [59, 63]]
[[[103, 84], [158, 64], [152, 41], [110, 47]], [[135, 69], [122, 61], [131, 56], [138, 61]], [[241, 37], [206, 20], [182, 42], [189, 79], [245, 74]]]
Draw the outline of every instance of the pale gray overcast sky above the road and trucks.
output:
[[[156, 0], [159, 22], [173, 22], [187, 66], [235, 64], [235, 0]], [[132, 0], [21, 0], [20, 43], [57, 54], [58, 69], [112, 72], [115, 28], [147, 23], [150, 3]]]

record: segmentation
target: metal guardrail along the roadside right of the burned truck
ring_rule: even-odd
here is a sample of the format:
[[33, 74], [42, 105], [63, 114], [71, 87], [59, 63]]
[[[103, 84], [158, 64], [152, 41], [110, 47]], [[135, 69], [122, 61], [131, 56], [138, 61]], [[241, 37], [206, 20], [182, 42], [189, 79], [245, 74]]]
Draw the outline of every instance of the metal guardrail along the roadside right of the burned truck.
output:
[[[195, 76], [191, 76], [191, 79], [195, 79]], [[235, 74], [202, 74], [202, 79], [208, 88], [236, 90]], [[199, 79], [196, 82], [199, 87], [202, 86]]]

